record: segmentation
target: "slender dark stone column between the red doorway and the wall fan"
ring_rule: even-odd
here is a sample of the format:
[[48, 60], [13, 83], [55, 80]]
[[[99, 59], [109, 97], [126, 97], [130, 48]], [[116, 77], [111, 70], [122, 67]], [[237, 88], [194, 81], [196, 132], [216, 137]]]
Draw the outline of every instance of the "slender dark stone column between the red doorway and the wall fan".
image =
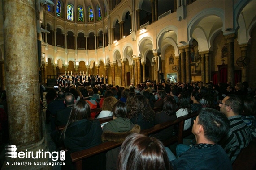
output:
[[228, 47], [228, 81], [234, 84], [234, 39], [235, 34], [225, 36]]

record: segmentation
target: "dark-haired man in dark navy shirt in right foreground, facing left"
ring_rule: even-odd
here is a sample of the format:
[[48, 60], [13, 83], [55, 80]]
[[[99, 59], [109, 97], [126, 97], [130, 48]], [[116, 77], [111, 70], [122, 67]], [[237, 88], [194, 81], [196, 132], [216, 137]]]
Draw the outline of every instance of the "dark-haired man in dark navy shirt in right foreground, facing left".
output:
[[[229, 130], [229, 121], [221, 112], [212, 108], [203, 108], [194, 120], [192, 133], [196, 145], [177, 146], [176, 158], [168, 150], [169, 159], [174, 170], [232, 170], [230, 159], [217, 143]], [[183, 153], [178, 149], [183, 147]]]

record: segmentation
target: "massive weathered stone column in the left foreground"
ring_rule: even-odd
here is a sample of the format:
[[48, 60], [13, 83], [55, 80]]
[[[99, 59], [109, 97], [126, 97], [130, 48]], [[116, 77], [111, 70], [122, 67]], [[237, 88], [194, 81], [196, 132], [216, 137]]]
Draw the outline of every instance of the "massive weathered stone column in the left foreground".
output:
[[[3, 0], [9, 145], [16, 145], [17, 153], [26, 150], [28, 153], [36, 152], [39, 149], [46, 151], [40, 112], [35, 6], [34, 0]], [[26, 169], [43, 169], [42, 166], [34, 166], [38, 159], [17, 157], [9, 161], [33, 162]], [[11, 165], [3, 167], [12, 170], [24, 168]]]

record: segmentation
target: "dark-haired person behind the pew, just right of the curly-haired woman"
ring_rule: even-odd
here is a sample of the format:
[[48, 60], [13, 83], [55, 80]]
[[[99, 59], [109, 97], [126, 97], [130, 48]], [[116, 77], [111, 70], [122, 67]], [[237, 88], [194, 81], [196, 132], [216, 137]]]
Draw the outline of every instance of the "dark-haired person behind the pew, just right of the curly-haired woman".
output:
[[[165, 123], [167, 121], [176, 120], [177, 104], [172, 96], [167, 96], [163, 100], [163, 110], [156, 113], [155, 124]], [[160, 132], [153, 135], [157, 139], [163, 141], [168, 139], [173, 131], [174, 127], [163, 129]]]

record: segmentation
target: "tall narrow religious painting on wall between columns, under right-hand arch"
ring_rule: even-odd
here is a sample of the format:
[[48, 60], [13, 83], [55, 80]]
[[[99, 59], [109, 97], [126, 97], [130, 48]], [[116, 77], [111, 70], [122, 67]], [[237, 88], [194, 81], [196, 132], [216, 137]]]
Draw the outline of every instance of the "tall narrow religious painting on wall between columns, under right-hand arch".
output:
[[201, 57], [196, 40], [193, 40], [190, 50], [190, 71], [191, 75], [201, 75]]

